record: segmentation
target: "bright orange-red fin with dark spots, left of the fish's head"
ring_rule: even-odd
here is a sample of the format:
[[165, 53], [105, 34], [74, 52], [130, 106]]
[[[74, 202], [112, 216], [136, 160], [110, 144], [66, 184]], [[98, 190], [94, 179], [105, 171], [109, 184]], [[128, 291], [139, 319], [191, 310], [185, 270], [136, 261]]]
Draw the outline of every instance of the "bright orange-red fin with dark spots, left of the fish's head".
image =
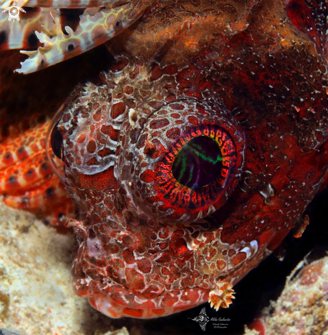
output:
[[28, 210], [51, 225], [62, 225], [66, 217], [74, 217], [74, 205], [47, 160], [49, 123], [35, 114], [9, 127], [10, 136], [1, 134], [0, 195], [6, 206]]

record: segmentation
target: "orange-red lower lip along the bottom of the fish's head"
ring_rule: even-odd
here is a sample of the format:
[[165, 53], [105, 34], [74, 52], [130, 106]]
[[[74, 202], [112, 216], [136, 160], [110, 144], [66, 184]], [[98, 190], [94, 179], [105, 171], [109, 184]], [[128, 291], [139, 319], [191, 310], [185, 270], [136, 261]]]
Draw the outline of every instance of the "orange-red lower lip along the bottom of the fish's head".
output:
[[[134, 299], [134, 301], [126, 299], [123, 304], [116, 302], [117, 297], [114, 297], [114, 295], [98, 293], [88, 297], [88, 301], [93, 308], [114, 319], [122, 317], [154, 319], [199, 306], [208, 301], [209, 293], [209, 289], [186, 288], [184, 290], [166, 292], [156, 297], [156, 299], [143, 299], [140, 297]], [[177, 297], [180, 299], [176, 300]], [[183, 300], [181, 297], [186, 297], [186, 299]], [[123, 301], [123, 299], [120, 300], [121, 302]]]

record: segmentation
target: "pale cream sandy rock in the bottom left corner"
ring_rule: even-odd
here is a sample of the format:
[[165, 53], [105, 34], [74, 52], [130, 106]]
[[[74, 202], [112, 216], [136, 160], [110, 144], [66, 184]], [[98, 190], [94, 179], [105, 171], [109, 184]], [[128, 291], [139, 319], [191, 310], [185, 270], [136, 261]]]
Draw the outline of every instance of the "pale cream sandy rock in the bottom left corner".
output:
[[[77, 297], [73, 235], [0, 203], [0, 330], [19, 335], [128, 335]], [[112, 331], [114, 331], [112, 333]], [[1, 333], [1, 332], [0, 332]]]

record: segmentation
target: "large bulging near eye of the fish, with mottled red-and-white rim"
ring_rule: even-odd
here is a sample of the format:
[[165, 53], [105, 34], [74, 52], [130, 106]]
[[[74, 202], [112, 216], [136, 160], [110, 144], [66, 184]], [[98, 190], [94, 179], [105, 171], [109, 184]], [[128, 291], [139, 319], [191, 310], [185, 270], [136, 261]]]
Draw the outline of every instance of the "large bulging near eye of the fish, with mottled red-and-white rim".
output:
[[167, 106], [149, 117], [136, 147], [135, 203], [163, 222], [190, 222], [218, 210], [237, 186], [244, 132], [225, 112], [188, 106], [178, 117]]

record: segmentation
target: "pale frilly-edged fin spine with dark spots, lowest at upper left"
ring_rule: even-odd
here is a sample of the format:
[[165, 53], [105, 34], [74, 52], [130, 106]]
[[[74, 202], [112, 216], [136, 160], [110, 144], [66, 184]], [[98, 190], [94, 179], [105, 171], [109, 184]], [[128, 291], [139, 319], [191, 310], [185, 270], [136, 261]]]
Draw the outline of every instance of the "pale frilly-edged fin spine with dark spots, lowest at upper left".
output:
[[21, 69], [16, 72], [26, 74], [38, 71], [101, 45], [134, 23], [152, 1], [135, 0], [101, 10], [94, 16], [81, 15], [76, 32], [71, 27], [65, 27], [68, 35], [62, 32], [59, 18], [56, 18], [55, 25], [50, 30], [42, 26], [42, 32], [36, 32], [40, 42], [45, 43], [44, 47], [39, 47], [36, 51], [21, 51], [29, 58], [21, 63]]

